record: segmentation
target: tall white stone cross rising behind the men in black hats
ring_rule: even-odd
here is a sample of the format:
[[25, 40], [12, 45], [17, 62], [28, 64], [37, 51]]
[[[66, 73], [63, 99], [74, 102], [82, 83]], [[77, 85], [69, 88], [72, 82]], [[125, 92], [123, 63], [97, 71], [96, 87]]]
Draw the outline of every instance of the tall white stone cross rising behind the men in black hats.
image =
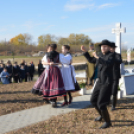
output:
[[121, 28], [121, 23], [116, 24], [116, 28], [112, 29], [112, 33], [116, 34], [116, 52], [121, 54], [121, 33], [125, 33], [126, 28]]

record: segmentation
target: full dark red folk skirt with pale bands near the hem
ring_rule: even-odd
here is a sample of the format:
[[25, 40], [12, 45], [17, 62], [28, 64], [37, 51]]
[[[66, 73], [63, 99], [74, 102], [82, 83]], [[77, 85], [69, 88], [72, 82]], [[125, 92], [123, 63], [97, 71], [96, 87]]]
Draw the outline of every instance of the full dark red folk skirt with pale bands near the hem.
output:
[[65, 96], [66, 90], [60, 69], [57, 66], [50, 66], [49, 69], [45, 69], [32, 91], [33, 93], [36, 91], [36, 94], [42, 94], [43, 98], [46, 99]]

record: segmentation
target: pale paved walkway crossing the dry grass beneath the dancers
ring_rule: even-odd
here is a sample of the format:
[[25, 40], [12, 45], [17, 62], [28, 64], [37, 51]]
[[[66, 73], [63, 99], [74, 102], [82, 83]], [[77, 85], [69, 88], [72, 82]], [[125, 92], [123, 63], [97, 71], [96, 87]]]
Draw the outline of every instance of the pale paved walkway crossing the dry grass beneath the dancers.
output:
[[74, 97], [72, 104], [66, 107], [60, 107], [63, 103], [63, 101], [60, 101], [57, 108], [52, 108], [48, 104], [0, 116], [0, 134], [48, 120], [52, 116], [86, 108], [91, 105], [89, 101], [90, 96], [89, 90], [87, 95]]

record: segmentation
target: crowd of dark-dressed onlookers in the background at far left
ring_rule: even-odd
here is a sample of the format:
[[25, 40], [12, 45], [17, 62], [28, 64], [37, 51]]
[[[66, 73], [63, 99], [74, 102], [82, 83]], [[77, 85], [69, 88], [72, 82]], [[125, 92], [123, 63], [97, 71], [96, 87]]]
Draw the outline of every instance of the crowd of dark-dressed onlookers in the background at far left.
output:
[[3, 84], [33, 81], [34, 72], [35, 65], [33, 62], [27, 64], [25, 60], [22, 60], [21, 64], [18, 65], [17, 62], [12, 64], [10, 60], [4, 64], [1, 60], [0, 63], [0, 81]]

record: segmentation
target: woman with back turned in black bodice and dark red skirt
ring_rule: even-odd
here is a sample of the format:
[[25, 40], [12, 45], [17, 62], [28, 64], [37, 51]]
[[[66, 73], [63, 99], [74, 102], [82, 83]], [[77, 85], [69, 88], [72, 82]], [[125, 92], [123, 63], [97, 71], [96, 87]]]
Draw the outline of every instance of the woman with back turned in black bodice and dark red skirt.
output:
[[[56, 107], [57, 97], [65, 96], [66, 91], [64, 89], [61, 71], [57, 66], [57, 64], [59, 64], [59, 53], [56, 52], [57, 45], [51, 44], [50, 48], [51, 51], [47, 53], [42, 61], [46, 69], [40, 76], [42, 78], [40, 79], [41, 84], [39, 91], [42, 93], [44, 99], [51, 101], [52, 107]], [[40, 83], [39, 80], [38, 82]]]

